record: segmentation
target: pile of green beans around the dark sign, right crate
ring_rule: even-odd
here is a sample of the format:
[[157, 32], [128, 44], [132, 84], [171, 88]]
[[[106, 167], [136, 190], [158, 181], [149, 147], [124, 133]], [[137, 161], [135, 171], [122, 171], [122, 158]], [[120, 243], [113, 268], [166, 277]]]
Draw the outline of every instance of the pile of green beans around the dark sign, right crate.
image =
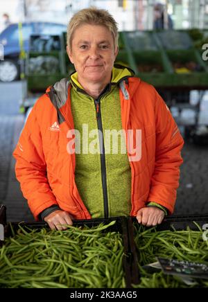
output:
[[141, 278], [139, 284], [133, 285], [133, 287], [208, 287], [206, 279], [194, 278], [197, 285], [187, 285], [178, 276], [164, 274], [162, 270], [150, 273], [143, 267], [156, 262], [156, 257], [208, 265], [208, 241], [202, 239], [202, 229], [198, 225], [197, 227], [198, 231], [193, 231], [189, 227], [184, 231], [174, 229], [157, 231], [155, 227], [147, 229], [139, 224], [134, 224]]

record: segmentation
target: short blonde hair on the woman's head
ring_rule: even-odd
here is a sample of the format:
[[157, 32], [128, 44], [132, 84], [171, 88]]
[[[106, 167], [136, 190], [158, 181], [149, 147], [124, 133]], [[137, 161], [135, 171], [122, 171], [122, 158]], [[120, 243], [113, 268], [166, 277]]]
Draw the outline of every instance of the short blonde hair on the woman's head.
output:
[[76, 12], [69, 21], [67, 27], [67, 45], [71, 48], [73, 33], [81, 24], [94, 24], [107, 27], [113, 35], [114, 46], [118, 46], [118, 26], [112, 15], [107, 10], [98, 9], [95, 7], [84, 8]]

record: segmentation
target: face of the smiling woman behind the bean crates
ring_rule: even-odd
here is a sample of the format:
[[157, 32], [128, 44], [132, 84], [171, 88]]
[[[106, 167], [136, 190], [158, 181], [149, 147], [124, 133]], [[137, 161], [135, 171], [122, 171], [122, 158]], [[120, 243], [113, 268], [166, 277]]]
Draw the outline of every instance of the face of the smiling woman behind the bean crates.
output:
[[71, 48], [67, 46], [69, 59], [82, 82], [110, 82], [118, 49], [105, 26], [83, 24], [73, 32]]

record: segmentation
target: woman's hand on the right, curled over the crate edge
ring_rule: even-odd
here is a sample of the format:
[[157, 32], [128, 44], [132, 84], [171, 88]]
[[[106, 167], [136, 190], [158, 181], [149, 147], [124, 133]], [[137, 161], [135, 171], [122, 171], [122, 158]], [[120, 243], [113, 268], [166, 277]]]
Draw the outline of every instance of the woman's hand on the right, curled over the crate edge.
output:
[[137, 220], [146, 227], [155, 227], [164, 219], [164, 211], [156, 206], [146, 206], [137, 212]]

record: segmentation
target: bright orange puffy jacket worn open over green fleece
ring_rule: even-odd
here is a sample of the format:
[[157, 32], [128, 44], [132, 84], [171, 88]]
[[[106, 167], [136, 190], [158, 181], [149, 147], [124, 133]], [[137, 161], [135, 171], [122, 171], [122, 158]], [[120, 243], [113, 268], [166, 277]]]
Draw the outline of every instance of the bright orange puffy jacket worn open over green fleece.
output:
[[[13, 152], [17, 179], [36, 220], [53, 204], [75, 219], [91, 218], [76, 187], [76, 154], [67, 152], [67, 132], [73, 129], [70, 89], [69, 81], [62, 79], [46, 90]], [[141, 130], [141, 159], [130, 161], [130, 215], [136, 216], [147, 202], [173, 213], [184, 143], [177, 125], [155, 88], [139, 78], [120, 82], [119, 96], [123, 129]]]

